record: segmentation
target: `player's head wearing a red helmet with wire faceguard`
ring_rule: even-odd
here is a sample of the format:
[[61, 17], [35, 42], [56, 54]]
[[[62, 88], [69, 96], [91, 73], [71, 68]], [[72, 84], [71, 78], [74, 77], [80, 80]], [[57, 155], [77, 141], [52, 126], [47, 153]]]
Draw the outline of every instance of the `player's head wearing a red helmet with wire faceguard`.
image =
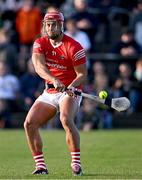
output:
[[60, 37], [64, 31], [64, 16], [61, 12], [48, 12], [43, 20], [43, 34], [49, 39], [55, 40]]

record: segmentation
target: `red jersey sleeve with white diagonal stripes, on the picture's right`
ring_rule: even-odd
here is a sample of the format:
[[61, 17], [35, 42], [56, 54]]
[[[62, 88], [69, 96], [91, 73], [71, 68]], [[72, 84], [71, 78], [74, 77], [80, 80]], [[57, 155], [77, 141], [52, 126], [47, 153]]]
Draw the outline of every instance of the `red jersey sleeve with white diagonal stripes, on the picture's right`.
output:
[[72, 48], [72, 61], [73, 66], [78, 66], [80, 64], [86, 63], [85, 50], [79, 43], [77, 43], [76, 46]]

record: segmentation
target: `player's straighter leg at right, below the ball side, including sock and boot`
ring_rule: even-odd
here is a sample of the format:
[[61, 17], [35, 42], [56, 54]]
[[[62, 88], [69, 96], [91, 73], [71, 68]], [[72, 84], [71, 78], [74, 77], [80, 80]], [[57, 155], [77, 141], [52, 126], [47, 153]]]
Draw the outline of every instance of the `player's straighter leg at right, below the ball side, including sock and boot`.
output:
[[60, 102], [60, 120], [66, 132], [66, 143], [71, 153], [71, 167], [74, 175], [82, 174], [80, 162], [80, 135], [74, 123], [78, 107], [78, 100], [68, 95]]

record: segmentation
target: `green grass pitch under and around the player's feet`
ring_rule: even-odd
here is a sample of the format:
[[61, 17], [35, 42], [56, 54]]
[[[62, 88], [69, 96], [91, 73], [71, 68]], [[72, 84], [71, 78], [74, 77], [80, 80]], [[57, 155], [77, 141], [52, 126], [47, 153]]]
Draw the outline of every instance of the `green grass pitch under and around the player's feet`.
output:
[[42, 130], [49, 175], [33, 176], [23, 130], [0, 131], [0, 179], [141, 179], [142, 130], [81, 132], [84, 176], [70, 171], [64, 131]]

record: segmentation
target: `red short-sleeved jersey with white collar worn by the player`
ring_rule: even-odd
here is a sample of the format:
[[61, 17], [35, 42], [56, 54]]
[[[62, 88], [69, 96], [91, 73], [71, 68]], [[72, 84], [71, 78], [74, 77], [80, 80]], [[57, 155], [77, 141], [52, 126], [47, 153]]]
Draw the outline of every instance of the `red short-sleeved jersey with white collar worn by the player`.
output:
[[[85, 50], [74, 39], [64, 34], [61, 43], [51, 44], [47, 36], [35, 40], [33, 53], [43, 54], [50, 73], [68, 86], [76, 77], [74, 66], [86, 63]], [[46, 83], [52, 84], [45, 79]]]

